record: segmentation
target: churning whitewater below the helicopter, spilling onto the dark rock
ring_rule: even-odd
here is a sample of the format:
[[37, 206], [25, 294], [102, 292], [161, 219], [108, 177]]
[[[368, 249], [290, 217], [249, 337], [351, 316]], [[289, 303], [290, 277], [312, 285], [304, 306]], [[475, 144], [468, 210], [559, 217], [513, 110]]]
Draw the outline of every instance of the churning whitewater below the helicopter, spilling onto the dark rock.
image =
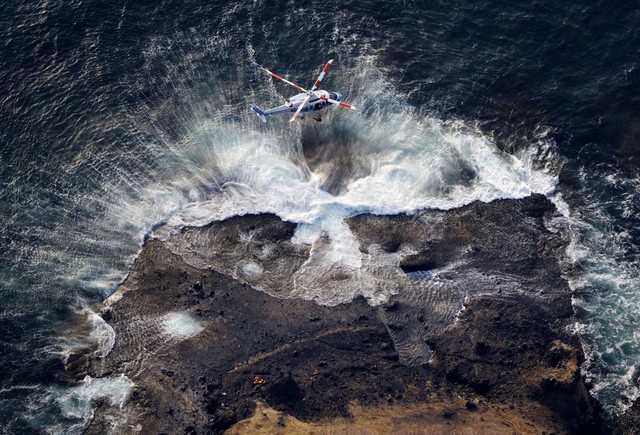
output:
[[[290, 296], [335, 305], [362, 295], [379, 304], [390, 294], [367, 285], [375, 282], [363, 269], [371, 259], [363, 257], [346, 218], [553, 195], [557, 177], [542, 160], [553, 154], [550, 141], [540, 138], [509, 155], [473, 126], [445, 122], [403, 103], [376, 71], [372, 59], [359, 61], [353, 70], [342, 68], [340, 74], [352, 77], [350, 95], [362, 111], [333, 112], [327, 124], [291, 130], [277, 119], [266, 127], [254, 119], [247, 126], [222, 116], [193, 122], [178, 143], [170, 144], [171, 176], [144, 186], [122, 208], [133, 210], [134, 216], [155, 212], [155, 220], [138, 226], [155, 227], [152, 236], [163, 240], [185, 226], [273, 213], [298, 224], [294, 243], [313, 246]], [[367, 85], [356, 86], [361, 83]], [[329, 154], [312, 168], [305, 149]], [[121, 216], [120, 208], [112, 219], [116, 216]], [[316, 244], [321, 237], [328, 240], [322, 246]], [[390, 256], [390, 264], [397, 265], [399, 255]], [[250, 282], [248, 275], [259, 274], [260, 268], [247, 264], [234, 275], [247, 275]], [[341, 278], [340, 291], [325, 282], [337, 270], [352, 277], [347, 285]]]

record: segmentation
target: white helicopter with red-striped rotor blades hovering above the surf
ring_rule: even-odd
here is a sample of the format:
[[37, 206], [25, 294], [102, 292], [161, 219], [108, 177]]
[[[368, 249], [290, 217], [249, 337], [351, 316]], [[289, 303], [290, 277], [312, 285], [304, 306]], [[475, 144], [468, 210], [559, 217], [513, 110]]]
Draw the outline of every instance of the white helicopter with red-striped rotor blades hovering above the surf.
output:
[[[286, 100], [286, 103], [283, 104], [282, 106], [274, 107], [269, 110], [262, 110], [258, 106], [252, 106], [251, 110], [253, 110], [260, 117], [262, 122], [267, 122], [267, 116], [284, 115], [289, 113], [293, 113], [293, 116], [291, 117], [291, 119], [289, 119], [289, 122], [293, 122], [298, 118], [302, 119], [300, 114], [303, 112], [305, 113], [315, 112], [318, 110], [322, 110], [327, 106], [338, 105], [341, 107], [346, 107], [347, 109], [356, 110], [354, 106], [342, 102], [342, 98], [343, 98], [342, 94], [338, 92], [327, 92], [327, 91], [318, 89], [318, 86], [320, 86], [320, 83], [322, 82], [324, 77], [327, 75], [327, 71], [329, 71], [329, 67], [331, 67], [331, 64], [333, 63], [333, 61], [334, 59], [329, 59], [327, 64], [324, 66], [322, 72], [318, 76], [318, 79], [313, 84], [311, 90], [306, 90], [302, 86], [298, 86], [295, 83], [292, 83], [289, 80], [285, 79], [284, 77], [281, 77], [278, 74], [271, 72], [264, 67], [259, 66], [259, 68], [266, 71], [271, 76], [277, 78], [278, 80], [282, 80], [287, 84], [290, 84], [291, 86], [293, 86], [294, 88], [302, 92], [294, 95], [291, 98], [288, 98]], [[318, 122], [322, 121], [322, 118], [320, 117], [314, 118], [314, 119]]]

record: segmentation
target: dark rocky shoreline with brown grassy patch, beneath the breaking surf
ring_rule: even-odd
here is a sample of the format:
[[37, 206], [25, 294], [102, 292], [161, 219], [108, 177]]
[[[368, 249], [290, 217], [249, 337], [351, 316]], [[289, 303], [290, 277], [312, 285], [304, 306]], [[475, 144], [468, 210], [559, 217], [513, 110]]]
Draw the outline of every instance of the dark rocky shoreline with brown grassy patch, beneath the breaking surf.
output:
[[86, 432], [597, 432], [559, 221], [541, 195], [350, 218], [363, 255], [398, 258], [376, 269], [401, 284], [378, 306], [291, 297], [313, 253], [273, 215], [149, 240], [101, 308], [114, 348], [68, 362], [135, 382]]

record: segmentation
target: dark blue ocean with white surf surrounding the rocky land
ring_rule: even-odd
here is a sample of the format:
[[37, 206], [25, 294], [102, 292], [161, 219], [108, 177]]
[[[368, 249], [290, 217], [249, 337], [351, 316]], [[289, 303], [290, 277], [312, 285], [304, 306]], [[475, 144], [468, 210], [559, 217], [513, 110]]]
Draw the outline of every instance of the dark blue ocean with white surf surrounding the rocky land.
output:
[[[87, 307], [146, 237], [275, 213], [318, 246], [293, 297], [380, 303], [373, 285], [310, 285], [335, 268], [375, 279], [345, 218], [534, 192], [573, 233], [562, 260], [592, 394], [624, 412], [640, 373], [639, 22], [604, 1], [0, 5], [0, 424], [81, 431], [91, 398], [125, 406], [132, 380], [72, 381], [63, 362], [113, 346]], [[295, 93], [256, 64], [308, 86], [329, 58], [322, 88], [358, 111], [265, 125], [249, 110]]]

